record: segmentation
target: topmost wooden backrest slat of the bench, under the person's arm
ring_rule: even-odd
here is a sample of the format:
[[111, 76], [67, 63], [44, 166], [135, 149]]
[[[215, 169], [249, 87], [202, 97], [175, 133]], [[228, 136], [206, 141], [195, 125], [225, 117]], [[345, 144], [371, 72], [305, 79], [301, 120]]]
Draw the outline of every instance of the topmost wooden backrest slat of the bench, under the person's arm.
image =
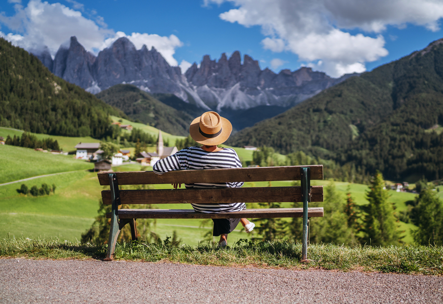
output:
[[[207, 170], [178, 170], [159, 175], [152, 171], [115, 172], [119, 185], [148, 185], [172, 183], [223, 183], [300, 180], [300, 168], [309, 167], [310, 179], [323, 179], [323, 165], [230, 168]], [[100, 185], [109, 186], [107, 172], [97, 174]]]

